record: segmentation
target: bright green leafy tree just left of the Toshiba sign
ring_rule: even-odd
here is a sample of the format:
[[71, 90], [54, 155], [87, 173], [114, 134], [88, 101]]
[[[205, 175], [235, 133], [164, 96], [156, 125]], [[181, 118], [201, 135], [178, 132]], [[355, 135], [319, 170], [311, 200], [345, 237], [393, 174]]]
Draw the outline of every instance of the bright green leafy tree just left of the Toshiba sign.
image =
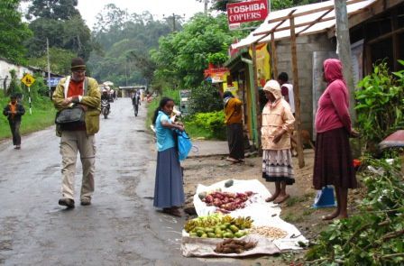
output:
[[209, 56], [221, 53], [227, 59], [227, 49], [237, 34], [229, 32], [224, 14], [195, 15], [182, 32], [162, 37], [159, 50], [151, 51], [157, 65], [155, 78], [170, 81], [171, 87], [198, 87]]

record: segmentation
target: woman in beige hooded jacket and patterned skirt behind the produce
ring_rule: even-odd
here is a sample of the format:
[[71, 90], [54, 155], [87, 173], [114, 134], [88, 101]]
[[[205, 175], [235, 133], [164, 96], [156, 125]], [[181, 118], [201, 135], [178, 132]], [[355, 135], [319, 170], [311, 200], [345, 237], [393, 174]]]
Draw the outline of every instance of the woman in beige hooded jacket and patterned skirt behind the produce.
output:
[[280, 84], [271, 79], [263, 87], [268, 103], [262, 110], [262, 178], [275, 182], [275, 193], [267, 202], [284, 202], [289, 198], [286, 186], [295, 183], [290, 133], [295, 118], [290, 105], [282, 98]]

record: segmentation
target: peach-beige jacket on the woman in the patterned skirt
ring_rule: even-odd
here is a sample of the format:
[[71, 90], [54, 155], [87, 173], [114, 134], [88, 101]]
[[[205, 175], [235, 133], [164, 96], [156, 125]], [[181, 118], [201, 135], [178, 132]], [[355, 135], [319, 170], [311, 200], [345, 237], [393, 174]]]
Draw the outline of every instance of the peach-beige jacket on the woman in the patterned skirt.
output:
[[[290, 134], [293, 132], [295, 117], [290, 105], [283, 98], [275, 104], [268, 102], [262, 110], [262, 150], [286, 150], [290, 149]], [[272, 142], [273, 137], [285, 129], [280, 142]]]

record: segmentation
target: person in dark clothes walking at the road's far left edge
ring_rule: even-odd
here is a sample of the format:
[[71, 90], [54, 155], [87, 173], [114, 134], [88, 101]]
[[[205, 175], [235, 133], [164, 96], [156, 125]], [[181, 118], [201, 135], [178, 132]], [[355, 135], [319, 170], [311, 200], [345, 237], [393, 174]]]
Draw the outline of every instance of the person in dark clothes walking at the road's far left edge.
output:
[[3, 115], [7, 116], [8, 124], [10, 125], [10, 130], [13, 135], [13, 145], [14, 149], [21, 149], [21, 134], [20, 134], [20, 125], [21, 125], [21, 116], [25, 114], [25, 109], [23, 105], [17, 101], [17, 96], [10, 96], [10, 103], [5, 106], [3, 110]]

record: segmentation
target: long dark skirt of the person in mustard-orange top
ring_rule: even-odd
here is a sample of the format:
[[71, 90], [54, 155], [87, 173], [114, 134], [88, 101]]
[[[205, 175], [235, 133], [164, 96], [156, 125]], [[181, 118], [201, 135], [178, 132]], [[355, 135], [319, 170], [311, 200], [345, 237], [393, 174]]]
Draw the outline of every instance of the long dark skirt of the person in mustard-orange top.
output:
[[243, 124], [227, 125], [227, 142], [229, 155], [234, 159], [244, 159]]

